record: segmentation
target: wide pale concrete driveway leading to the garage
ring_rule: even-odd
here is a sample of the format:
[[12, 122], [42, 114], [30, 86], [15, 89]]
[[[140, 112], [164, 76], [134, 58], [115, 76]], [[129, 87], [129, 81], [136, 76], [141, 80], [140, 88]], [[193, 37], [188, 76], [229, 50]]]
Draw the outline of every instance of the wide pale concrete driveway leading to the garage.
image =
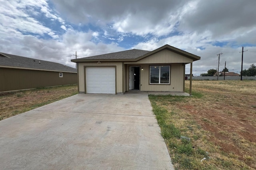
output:
[[173, 169], [146, 93], [75, 96], [0, 121], [0, 169]]

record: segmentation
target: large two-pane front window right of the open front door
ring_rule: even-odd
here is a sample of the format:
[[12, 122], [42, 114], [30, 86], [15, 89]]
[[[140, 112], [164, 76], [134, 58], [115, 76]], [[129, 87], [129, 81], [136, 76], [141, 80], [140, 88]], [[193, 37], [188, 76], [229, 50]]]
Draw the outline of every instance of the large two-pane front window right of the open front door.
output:
[[150, 66], [150, 84], [170, 84], [170, 66]]

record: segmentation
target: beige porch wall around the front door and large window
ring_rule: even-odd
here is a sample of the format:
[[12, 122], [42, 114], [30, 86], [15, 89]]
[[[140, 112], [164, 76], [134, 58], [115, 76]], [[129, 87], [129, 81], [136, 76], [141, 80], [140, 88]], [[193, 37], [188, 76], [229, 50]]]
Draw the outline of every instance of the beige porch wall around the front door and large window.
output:
[[150, 84], [150, 65], [156, 64], [126, 65], [126, 91], [129, 91], [129, 66], [140, 66], [143, 68], [140, 70], [140, 91], [184, 92], [184, 65], [182, 63], [162, 64], [170, 65], [170, 84]]

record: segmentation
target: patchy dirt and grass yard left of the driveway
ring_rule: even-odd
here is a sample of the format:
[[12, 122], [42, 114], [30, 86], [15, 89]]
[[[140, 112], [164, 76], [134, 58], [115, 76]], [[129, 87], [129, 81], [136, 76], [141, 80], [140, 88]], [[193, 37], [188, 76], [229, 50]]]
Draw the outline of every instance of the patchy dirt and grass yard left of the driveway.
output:
[[0, 94], [0, 120], [77, 94], [77, 85]]

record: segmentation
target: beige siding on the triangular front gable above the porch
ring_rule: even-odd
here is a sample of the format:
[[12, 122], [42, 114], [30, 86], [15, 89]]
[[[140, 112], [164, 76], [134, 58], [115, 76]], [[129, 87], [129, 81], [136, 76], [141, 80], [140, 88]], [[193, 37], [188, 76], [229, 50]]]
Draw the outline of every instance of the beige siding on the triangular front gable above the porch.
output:
[[[150, 64], [150, 63], [192, 63], [193, 60], [169, 50], [163, 50], [155, 53], [145, 59], [137, 61], [136, 64]], [[125, 62], [124, 64], [132, 64], [132, 62]]]

